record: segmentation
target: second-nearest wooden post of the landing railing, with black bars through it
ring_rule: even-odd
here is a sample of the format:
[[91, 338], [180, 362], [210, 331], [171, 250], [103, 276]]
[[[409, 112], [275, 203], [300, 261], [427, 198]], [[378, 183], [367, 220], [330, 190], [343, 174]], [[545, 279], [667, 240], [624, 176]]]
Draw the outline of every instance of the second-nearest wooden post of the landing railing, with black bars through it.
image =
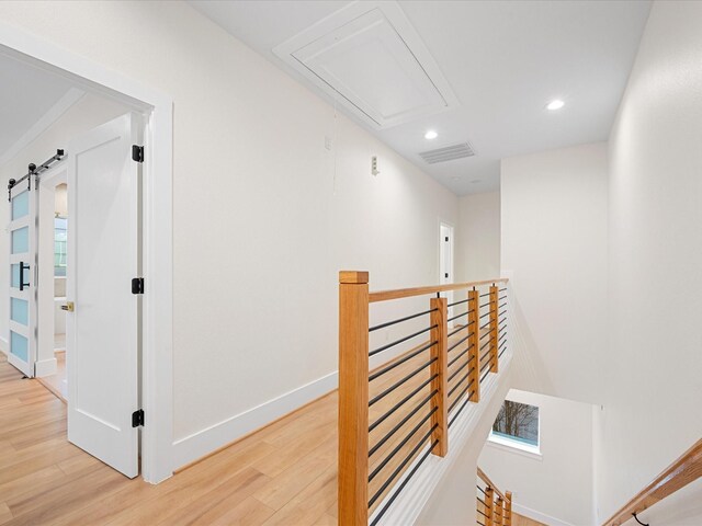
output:
[[[437, 407], [437, 411], [431, 415], [431, 426], [437, 424], [437, 428], [431, 433], [431, 442], [439, 441], [434, 446], [432, 454], [439, 457], [445, 457], [449, 453], [449, 380], [448, 380], [448, 336], [446, 336], [446, 318], [448, 306], [446, 298], [431, 298], [430, 323], [431, 323], [431, 342], [430, 355], [435, 361], [431, 364], [431, 376], [438, 375], [431, 380], [431, 391], [437, 390], [433, 398], [432, 409]], [[341, 523], [343, 524], [343, 523]]]

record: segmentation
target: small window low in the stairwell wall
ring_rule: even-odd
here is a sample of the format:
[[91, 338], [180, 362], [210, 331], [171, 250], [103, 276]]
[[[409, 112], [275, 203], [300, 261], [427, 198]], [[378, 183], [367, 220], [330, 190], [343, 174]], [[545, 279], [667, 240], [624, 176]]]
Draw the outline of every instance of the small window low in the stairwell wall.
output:
[[539, 408], [505, 400], [492, 424], [489, 441], [540, 455]]

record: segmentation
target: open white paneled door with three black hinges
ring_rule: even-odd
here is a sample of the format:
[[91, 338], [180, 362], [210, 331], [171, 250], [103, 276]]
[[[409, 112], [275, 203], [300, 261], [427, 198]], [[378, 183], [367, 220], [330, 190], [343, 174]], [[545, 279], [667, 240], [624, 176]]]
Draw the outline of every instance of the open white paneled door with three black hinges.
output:
[[140, 169], [137, 116], [71, 141], [68, 155], [66, 317], [68, 439], [116, 470], [138, 474]]

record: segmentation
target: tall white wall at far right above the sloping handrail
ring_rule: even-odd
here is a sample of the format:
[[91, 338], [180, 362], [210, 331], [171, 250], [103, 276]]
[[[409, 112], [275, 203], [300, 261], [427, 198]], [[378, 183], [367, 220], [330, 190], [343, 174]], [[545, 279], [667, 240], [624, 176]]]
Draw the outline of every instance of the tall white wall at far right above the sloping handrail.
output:
[[601, 519], [702, 436], [700, 64], [702, 3], [654, 3], [610, 137]]

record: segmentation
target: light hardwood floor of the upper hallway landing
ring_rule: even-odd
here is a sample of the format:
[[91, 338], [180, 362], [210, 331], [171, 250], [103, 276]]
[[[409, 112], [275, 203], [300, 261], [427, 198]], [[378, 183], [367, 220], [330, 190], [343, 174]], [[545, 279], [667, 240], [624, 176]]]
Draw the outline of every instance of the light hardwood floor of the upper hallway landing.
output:
[[[463, 331], [453, 338], [462, 336]], [[372, 382], [371, 397], [426, 363], [427, 356], [421, 353]], [[451, 371], [461, 363], [458, 359]], [[374, 404], [371, 422], [428, 375], [427, 369], [411, 384]], [[462, 376], [457, 375], [454, 382]], [[412, 397], [408, 407], [416, 405], [428, 389]], [[451, 401], [461, 391], [462, 388], [457, 389]], [[424, 413], [429, 410], [429, 404], [426, 405]], [[388, 418], [380, 425], [373, 432], [371, 445], [404, 414]], [[428, 423], [420, 425], [414, 441], [399, 446], [422, 416], [420, 411], [409, 419], [373, 455], [371, 471], [387, 453], [398, 449], [371, 483], [370, 495], [424, 434]], [[150, 485], [139, 479], [126, 479], [69, 444], [66, 405], [37, 380], [22, 379], [0, 354], [0, 524], [337, 524], [337, 393], [302, 408], [158, 485]]]

